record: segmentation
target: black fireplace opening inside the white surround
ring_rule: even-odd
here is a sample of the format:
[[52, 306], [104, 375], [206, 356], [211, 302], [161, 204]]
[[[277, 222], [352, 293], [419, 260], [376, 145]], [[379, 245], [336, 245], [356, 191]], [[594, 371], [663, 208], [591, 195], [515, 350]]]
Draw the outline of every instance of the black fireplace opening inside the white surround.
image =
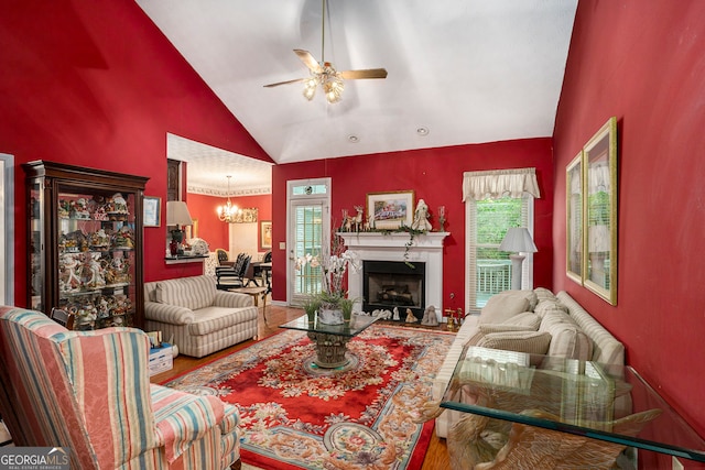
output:
[[362, 262], [362, 310], [399, 309], [405, 318], [406, 309], [419, 319], [426, 307], [426, 263], [406, 264], [401, 261]]

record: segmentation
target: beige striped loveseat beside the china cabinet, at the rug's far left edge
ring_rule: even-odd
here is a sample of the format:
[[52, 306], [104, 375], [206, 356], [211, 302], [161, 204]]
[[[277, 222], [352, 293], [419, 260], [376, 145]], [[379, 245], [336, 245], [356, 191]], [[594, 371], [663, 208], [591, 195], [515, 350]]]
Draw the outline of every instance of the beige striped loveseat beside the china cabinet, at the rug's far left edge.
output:
[[257, 338], [258, 308], [247, 294], [218, 291], [215, 277], [203, 275], [144, 284], [147, 331], [162, 331], [178, 352], [203, 358]]

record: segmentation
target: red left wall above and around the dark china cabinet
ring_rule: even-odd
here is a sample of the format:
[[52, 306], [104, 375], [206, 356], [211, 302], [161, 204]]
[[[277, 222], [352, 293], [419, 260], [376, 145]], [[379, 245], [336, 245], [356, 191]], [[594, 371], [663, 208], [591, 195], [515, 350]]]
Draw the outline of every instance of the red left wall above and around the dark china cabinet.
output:
[[[270, 161], [134, 2], [0, 2], [0, 152], [149, 176], [166, 200], [166, 133]], [[24, 175], [15, 173], [15, 300], [25, 303]], [[162, 205], [165, 220], [165, 205]], [[166, 228], [144, 231], [147, 281]]]

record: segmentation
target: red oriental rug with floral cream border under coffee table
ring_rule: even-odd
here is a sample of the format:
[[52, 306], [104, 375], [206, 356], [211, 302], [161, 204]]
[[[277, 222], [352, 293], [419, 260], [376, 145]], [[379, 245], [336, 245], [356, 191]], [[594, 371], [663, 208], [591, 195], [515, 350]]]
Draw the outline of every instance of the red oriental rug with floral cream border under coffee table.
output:
[[372, 325], [348, 370], [311, 365], [312, 341], [284, 330], [166, 383], [240, 411], [242, 462], [265, 469], [420, 469], [433, 420], [413, 423], [453, 334]]

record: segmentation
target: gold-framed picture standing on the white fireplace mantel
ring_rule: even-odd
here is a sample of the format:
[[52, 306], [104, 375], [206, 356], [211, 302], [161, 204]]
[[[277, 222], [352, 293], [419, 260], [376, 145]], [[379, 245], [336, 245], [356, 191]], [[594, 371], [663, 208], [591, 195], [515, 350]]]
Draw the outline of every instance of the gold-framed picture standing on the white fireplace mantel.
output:
[[414, 195], [413, 190], [368, 193], [367, 217], [370, 227], [378, 230], [411, 227], [414, 217]]

